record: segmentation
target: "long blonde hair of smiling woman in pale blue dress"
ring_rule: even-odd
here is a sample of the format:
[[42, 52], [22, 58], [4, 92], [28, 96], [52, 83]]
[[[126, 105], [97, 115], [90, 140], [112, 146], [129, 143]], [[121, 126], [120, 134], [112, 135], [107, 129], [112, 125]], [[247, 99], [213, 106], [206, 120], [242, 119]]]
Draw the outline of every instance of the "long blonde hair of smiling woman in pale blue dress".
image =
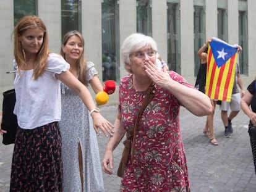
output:
[[[81, 81], [83, 83], [83, 85], [88, 85], [88, 82], [87, 82], [87, 61], [86, 61], [85, 56], [84, 56], [85, 41], [83, 40], [82, 34], [79, 33], [79, 31], [76, 31], [76, 30], [67, 32], [66, 35], [64, 35], [62, 45], [66, 46], [67, 41], [69, 41], [69, 38], [71, 36], [74, 36], [74, 35], [77, 36], [80, 39], [80, 41], [82, 42], [82, 45], [83, 45], [82, 54], [76, 62], [77, 75], [78, 75], [79, 81]], [[61, 56], [64, 57], [64, 59], [66, 60], [65, 52], [62, 49], [61, 49]]]

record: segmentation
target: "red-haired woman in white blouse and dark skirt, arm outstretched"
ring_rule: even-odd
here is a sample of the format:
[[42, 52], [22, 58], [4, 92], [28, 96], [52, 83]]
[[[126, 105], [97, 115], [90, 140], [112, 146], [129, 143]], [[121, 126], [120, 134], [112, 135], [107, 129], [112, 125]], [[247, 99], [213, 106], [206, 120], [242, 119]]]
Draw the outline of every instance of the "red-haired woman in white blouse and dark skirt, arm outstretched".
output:
[[[62, 191], [61, 81], [92, 111], [93, 127], [105, 135], [113, 125], [95, 109], [90, 91], [69, 71], [69, 64], [48, 49], [45, 23], [27, 15], [14, 28], [14, 144], [10, 191]], [[0, 130], [1, 134], [4, 134]]]

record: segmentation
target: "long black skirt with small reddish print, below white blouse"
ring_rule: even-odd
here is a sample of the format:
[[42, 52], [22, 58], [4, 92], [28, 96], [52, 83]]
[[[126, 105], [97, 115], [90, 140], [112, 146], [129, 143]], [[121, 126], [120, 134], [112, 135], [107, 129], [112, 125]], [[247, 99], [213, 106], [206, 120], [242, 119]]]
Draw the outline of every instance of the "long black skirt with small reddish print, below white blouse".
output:
[[62, 191], [59, 123], [17, 128], [10, 191]]

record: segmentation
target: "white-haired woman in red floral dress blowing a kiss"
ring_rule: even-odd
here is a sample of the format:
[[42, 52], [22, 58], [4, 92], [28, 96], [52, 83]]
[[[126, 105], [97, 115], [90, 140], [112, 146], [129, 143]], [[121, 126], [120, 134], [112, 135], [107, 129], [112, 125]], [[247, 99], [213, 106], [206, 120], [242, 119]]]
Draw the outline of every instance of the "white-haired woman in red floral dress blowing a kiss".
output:
[[131, 154], [120, 191], [190, 191], [179, 109], [184, 106], [198, 116], [212, 111], [210, 99], [181, 75], [158, 69], [156, 53], [155, 40], [139, 33], [128, 36], [121, 47], [122, 62], [130, 75], [119, 85], [115, 133], [102, 161], [106, 173], [113, 173], [113, 151], [124, 134], [133, 131], [150, 85], [155, 96], [140, 117], [134, 142], [130, 140]]

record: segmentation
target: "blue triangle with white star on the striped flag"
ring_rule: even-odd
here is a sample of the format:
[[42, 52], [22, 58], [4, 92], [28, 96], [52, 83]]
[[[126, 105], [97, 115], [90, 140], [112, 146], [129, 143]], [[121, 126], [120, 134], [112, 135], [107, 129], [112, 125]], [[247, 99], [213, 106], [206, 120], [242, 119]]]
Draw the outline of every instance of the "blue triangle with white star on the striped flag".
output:
[[211, 52], [218, 67], [224, 65], [237, 52], [237, 46], [222, 41], [218, 38], [213, 38], [210, 42]]

